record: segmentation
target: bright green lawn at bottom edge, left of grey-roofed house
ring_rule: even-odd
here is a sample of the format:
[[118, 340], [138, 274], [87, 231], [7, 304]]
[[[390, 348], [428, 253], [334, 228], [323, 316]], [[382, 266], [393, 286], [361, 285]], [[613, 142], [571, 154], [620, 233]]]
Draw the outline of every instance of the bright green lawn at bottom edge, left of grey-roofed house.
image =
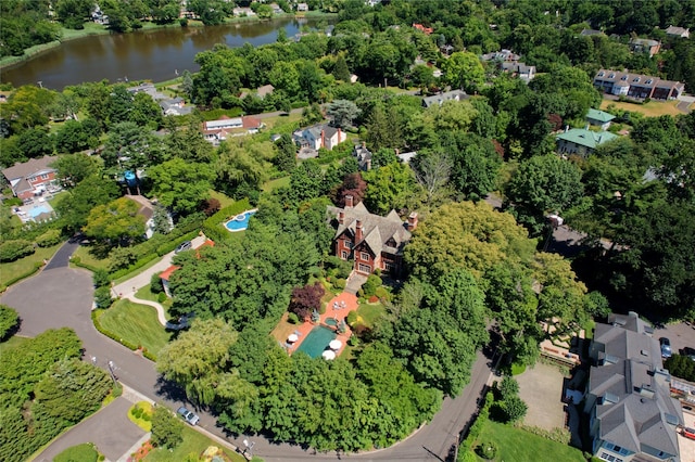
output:
[[491, 421], [485, 422], [480, 440], [492, 441], [497, 446], [495, 461], [535, 462], [539, 460], [539, 454], [553, 454], [553, 460], [565, 462], [586, 460], [582, 451], [577, 448]]

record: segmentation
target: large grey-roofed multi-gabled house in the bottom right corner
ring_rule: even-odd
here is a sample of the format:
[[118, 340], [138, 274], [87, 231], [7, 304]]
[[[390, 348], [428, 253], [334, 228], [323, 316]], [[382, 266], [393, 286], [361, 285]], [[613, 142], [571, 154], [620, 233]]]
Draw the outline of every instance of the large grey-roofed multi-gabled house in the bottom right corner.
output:
[[635, 312], [596, 323], [584, 412], [593, 454], [610, 462], [680, 461], [677, 426], [683, 413], [671, 398], [653, 330]]

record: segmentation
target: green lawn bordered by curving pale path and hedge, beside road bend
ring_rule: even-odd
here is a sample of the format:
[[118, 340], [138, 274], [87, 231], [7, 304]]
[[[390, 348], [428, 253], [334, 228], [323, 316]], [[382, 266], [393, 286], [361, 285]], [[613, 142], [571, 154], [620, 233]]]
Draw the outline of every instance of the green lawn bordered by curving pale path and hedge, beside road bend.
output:
[[154, 308], [125, 299], [105, 310], [99, 322], [105, 330], [134, 345], [141, 345], [155, 356], [172, 336], [160, 324]]

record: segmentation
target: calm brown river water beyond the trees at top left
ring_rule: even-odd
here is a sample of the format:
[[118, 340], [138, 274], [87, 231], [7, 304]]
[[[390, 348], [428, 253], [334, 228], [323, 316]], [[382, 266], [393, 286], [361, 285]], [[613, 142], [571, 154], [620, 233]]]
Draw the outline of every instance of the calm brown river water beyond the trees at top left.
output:
[[176, 77], [176, 72], [198, 70], [195, 54], [215, 43], [233, 48], [249, 42], [257, 47], [275, 42], [280, 28], [292, 37], [303, 25], [316, 27], [319, 22], [325, 24], [326, 20], [282, 18], [85, 37], [0, 70], [0, 81], [15, 87], [41, 81], [45, 88], [62, 90], [68, 85], [102, 79], [168, 80]]

